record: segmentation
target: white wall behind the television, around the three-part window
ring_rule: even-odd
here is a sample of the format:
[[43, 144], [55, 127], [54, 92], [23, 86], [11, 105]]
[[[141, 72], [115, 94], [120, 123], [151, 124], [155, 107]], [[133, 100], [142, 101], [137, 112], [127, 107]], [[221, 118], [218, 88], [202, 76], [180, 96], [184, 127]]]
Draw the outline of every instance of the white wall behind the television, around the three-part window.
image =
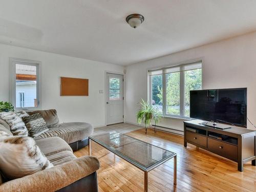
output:
[[[125, 121], [136, 123], [138, 102], [147, 99], [148, 69], [197, 58], [203, 58], [203, 89], [247, 88], [247, 117], [256, 123], [256, 32], [128, 66]], [[183, 130], [183, 121], [164, 119], [159, 125]], [[253, 129], [248, 121], [247, 127]]]

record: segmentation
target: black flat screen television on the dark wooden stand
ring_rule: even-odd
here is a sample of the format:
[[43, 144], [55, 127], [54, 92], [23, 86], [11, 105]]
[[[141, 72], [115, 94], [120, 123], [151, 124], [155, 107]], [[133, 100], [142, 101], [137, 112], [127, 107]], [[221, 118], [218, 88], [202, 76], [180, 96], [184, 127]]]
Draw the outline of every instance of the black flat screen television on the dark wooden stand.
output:
[[247, 89], [190, 91], [190, 118], [246, 127]]

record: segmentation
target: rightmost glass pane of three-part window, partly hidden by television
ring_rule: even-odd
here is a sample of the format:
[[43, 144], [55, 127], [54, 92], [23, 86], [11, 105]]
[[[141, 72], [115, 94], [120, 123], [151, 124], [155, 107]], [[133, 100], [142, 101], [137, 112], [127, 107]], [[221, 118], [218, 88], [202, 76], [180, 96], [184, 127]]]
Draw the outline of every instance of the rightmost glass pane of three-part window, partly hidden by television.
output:
[[185, 71], [185, 116], [189, 117], [189, 91], [202, 89], [202, 69]]

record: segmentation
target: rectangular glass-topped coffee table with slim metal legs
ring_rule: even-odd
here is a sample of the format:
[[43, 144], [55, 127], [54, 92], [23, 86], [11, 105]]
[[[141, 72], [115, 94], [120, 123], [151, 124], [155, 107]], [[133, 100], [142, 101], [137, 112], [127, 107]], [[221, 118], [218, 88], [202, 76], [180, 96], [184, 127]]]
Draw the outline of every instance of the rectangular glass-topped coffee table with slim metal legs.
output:
[[98, 143], [115, 155], [133, 164], [144, 172], [144, 191], [148, 190], [148, 172], [164, 162], [174, 158], [174, 184], [177, 183], [177, 154], [146, 143], [122, 133], [113, 131], [89, 137], [89, 155], [91, 141]]

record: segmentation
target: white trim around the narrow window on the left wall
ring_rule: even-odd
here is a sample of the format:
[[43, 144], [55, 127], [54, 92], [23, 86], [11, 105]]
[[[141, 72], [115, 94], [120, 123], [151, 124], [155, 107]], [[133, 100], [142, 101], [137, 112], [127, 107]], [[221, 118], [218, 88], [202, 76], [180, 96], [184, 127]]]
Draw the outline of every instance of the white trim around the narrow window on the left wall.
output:
[[[36, 97], [37, 97], [37, 107], [29, 108], [16, 108], [16, 69], [15, 62], [19, 62], [24, 65], [36, 66]], [[41, 61], [20, 59], [20, 58], [9, 58], [10, 63], [10, 101], [12, 102], [15, 110], [25, 110], [34, 111], [41, 109]]]

